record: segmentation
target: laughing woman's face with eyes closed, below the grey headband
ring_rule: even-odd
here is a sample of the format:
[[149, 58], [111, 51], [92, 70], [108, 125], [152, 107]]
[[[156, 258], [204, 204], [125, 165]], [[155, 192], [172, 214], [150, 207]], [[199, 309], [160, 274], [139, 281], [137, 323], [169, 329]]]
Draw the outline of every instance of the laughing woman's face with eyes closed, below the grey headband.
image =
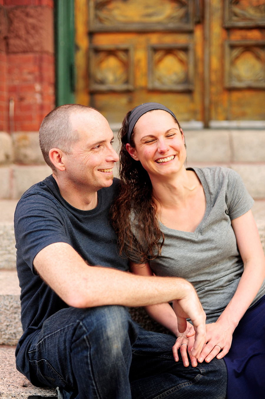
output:
[[169, 176], [181, 170], [186, 159], [182, 130], [171, 114], [155, 110], [142, 115], [135, 124], [135, 148], [127, 151], [140, 161], [149, 176]]

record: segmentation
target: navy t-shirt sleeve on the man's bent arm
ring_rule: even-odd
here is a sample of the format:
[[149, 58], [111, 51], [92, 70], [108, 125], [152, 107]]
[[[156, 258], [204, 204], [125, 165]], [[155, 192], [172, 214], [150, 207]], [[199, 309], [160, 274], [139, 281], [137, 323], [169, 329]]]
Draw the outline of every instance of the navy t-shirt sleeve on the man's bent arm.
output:
[[34, 274], [33, 260], [41, 249], [57, 242], [70, 244], [57, 205], [41, 195], [20, 199], [14, 228], [17, 256], [22, 257]]

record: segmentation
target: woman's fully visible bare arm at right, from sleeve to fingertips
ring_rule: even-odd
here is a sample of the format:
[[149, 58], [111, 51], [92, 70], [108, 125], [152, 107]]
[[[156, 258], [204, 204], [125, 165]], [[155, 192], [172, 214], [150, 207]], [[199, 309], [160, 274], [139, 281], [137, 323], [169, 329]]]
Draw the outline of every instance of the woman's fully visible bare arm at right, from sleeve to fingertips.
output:
[[[257, 295], [265, 277], [265, 257], [251, 210], [231, 221], [244, 271], [236, 292], [216, 323], [207, 324], [207, 345], [198, 358], [211, 361], [223, 358], [230, 350], [232, 334], [239, 320]], [[220, 351], [221, 348], [221, 351]], [[220, 353], [219, 353], [220, 352]]]

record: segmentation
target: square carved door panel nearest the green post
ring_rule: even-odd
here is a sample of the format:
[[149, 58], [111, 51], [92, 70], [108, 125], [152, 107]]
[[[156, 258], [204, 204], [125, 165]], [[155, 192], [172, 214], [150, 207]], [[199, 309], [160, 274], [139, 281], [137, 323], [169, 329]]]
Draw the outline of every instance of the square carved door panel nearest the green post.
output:
[[132, 47], [91, 46], [90, 90], [133, 90]]

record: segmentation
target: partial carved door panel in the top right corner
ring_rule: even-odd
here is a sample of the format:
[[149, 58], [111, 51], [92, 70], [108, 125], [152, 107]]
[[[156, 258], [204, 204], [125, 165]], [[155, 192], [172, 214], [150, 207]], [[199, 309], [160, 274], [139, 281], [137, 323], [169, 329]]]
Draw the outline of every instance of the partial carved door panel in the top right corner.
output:
[[265, 26], [264, 0], [225, 0], [224, 26], [226, 28]]

